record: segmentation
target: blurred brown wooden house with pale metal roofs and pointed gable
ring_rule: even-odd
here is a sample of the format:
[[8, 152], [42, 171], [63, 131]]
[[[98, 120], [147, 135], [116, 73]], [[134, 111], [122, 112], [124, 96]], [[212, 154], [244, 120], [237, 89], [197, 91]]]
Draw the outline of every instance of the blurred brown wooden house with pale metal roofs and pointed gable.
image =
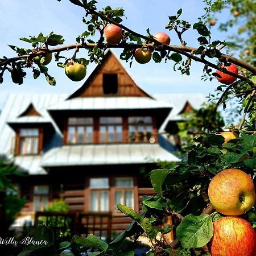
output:
[[175, 137], [164, 129], [204, 100], [150, 96], [111, 51], [71, 95], [9, 96], [0, 118], [0, 155], [27, 174], [14, 180], [27, 199], [21, 215], [61, 198], [71, 212], [108, 213], [113, 230], [125, 229], [129, 220], [116, 205], [139, 212], [142, 195], [154, 192], [141, 168], [179, 161]]

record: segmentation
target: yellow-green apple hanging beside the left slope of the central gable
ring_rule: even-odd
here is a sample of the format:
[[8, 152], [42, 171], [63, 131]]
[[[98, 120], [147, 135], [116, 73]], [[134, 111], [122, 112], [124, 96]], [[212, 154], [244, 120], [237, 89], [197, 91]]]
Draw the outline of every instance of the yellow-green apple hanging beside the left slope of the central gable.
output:
[[72, 81], [78, 82], [85, 78], [86, 68], [75, 61], [70, 61], [65, 65], [65, 74]]

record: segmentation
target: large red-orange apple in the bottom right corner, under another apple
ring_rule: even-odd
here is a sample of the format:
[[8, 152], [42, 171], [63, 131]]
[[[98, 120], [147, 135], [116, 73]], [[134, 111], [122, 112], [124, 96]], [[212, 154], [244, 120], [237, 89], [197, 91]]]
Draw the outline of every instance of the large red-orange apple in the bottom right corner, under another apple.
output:
[[213, 222], [213, 237], [207, 247], [212, 256], [255, 256], [256, 234], [241, 217], [222, 217]]

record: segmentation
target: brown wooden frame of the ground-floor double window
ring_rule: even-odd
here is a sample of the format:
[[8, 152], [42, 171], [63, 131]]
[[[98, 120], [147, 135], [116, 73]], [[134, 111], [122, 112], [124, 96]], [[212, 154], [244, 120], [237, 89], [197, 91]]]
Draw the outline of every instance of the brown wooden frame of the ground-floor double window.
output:
[[[127, 178], [130, 177], [133, 179], [133, 187], [114, 187], [114, 179], [117, 178]], [[109, 188], [89, 188], [89, 181], [93, 178], [108, 178], [109, 179]], [[138, 181], [136, 176], [130, 175], [102, 175], [102, 176], [90, 176], [85, 179], [85, 212], [90, 212], [90, 191], [109, 191], [109, 212], [113, 216], [120, 216], [123, 213], [118, 212], [115, 209], [115, 191], [133, 191], [134, 199], [134, 210], [139, 211], [139, 195], [138, 195]], [[125, 197], [124, 197], [125, 198]], [[98, 204], [100, 204], [100, 193], [98, 193]], [[100, 209], [100, 208], [98, 208]]]

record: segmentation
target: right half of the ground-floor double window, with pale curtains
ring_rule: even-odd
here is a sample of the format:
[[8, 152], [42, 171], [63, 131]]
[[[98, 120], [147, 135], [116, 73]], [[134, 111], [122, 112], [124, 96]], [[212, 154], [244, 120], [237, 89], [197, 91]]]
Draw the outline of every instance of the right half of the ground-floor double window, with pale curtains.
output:
[[116, 211], [118, 204], [134, 208], [133, 178], [118, 177], [114, 179], [114, 200]]

